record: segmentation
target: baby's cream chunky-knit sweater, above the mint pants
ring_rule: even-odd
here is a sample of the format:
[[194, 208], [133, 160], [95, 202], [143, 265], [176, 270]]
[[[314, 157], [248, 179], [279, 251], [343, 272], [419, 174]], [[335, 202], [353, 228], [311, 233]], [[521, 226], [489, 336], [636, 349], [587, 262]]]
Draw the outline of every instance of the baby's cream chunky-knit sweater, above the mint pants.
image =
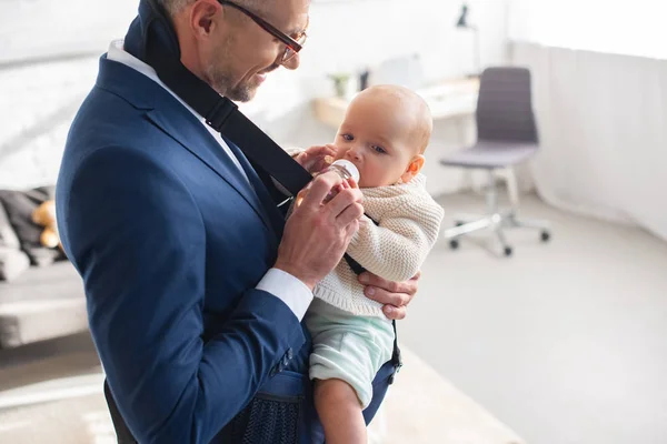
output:
[[[402, 282], [419, 271], [436, 243], [444, 210], [426, 191], [418, 174], [399, 185], [361, 189], [362, 216], [347, 253], [367, 271]], [[356, 315], [386, 317], [382, 305], [364, 294], [364, 286], [342, 260], [315, 287], [315, 296]]]

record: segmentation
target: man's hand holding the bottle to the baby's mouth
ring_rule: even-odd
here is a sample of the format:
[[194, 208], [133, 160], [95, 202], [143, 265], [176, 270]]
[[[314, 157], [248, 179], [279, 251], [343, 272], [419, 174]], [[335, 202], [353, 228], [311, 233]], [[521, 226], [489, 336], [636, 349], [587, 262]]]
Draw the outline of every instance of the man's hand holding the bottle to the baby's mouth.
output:
[[[340, 191], [323, 204], [334, 188]], [[297, 196], [300, 203], [287, 220], [275, 266], [312, 290], [340, 262], [359, 229], [361, 199], [354, 180], [346, 182], [336, 172], [318, 175]]]

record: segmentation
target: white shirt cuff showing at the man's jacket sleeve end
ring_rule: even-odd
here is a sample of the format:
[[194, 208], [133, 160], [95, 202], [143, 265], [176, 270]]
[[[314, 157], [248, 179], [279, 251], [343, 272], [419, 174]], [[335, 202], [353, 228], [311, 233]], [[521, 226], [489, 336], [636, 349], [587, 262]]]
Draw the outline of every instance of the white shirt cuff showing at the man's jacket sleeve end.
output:
[[285, 302], [299, 322], [312, 302], [312, 292], [303, 282], [278, 269], [270, 269], [257, 284], [257, 290], [271, 293]]

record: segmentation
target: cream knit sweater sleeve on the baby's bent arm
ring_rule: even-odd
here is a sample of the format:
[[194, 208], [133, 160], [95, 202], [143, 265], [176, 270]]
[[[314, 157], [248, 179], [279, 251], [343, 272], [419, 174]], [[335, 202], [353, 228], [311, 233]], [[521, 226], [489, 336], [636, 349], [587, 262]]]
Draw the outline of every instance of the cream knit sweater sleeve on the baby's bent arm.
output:
[[[395, 282], [412, 278], [438, 239], [444, 210], [426, 192], [365, 198], [362, 216], [348, 253], [367, 271]], [[369, 212], [368, 210], [372, 210]]]

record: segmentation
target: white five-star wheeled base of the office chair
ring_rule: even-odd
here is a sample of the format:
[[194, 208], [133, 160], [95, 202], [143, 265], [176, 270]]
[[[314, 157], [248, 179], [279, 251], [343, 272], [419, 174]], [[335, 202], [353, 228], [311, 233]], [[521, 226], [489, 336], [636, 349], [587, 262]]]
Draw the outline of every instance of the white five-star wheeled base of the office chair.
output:
[[486, 200], [486, 215], [459, 215], [458, 218], [455, 218], [456, 226], [444, 231], [442, 235], [445, 239], [449, 240], [449, 246], [457, 249], [459, 246], [460, 238], [465, 236], [466, 234], [486, 230], [495, 234], [502, 249], [502, 253], [506, 256], [510, 256], [514, 250], [505, 236], [505, 230], [507, 229], [527, 228], [539, 230], [540, 240], [542, 242], [547, 242], [551, 239], [549, 223], [547, 221], [521, 219], [518, 216], [518, 211], [516, 209], [507, 211], [498, 210], [498, 190], [496, 188], [496, 181], [492, 171], [489, 171]]

